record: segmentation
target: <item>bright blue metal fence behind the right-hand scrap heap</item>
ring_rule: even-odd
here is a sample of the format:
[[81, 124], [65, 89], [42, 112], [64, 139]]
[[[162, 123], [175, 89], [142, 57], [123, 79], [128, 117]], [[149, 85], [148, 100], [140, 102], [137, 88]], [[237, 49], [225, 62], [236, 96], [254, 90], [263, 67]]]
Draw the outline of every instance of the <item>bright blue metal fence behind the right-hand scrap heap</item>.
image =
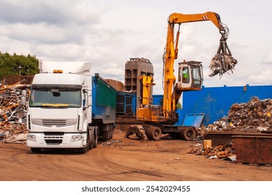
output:
[[[204, 125], [227, 116], [232, 104], [248, 102], [252, 97], [259, 100], [272, 98], [272, 86], [222, 86], [203, 87], [201, 91], [183, 93], [182, 109], [178, 110], [179, 123], [183, 123], [186, 114], [205, 114]], [[160, 104], [163, 95], [153, 95], [154, 104]]]

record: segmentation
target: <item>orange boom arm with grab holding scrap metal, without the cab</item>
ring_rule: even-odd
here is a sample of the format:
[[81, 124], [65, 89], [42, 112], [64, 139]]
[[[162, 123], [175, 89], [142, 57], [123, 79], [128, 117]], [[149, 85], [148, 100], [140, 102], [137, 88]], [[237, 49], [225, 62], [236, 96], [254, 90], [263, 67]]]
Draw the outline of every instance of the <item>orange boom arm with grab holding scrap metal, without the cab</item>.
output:
[[216, 56], [211, 60], [210, 77], [214, 75], [223, 75], [225, 72], [232, 71], [237, 61], [232, 57], [232, 53], [227, 46], [227, 36], [229, 29], [225, 24], [222, 24], [220, 16], [217, 13], [206, 12], [202, 14], [183, 15], [181, 13], [173, 13], [168, 18], [167, 28], [167, 44], [165, 46], [164, 61], [164, 98], [163, 98], [163, 114], [170, 121], [176, 120], [176, 103], [182, 93], [181, 89], [174, 88], [176, 77], [174, 76], [174, 60], [178, 57], [179, 30], [174, 37], [174, 25], [179, 24], [179, 29], [182, 23], [202, 22], [210, 20], [219, 29], [221, 34], [220, 45]]

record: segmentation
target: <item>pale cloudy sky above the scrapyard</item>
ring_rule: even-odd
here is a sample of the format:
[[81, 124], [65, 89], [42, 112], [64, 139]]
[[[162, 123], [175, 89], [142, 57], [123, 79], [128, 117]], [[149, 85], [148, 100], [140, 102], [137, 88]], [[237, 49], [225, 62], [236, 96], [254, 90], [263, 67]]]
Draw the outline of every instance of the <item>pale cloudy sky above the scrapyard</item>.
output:
[[126, 61], [143, 57], [153, 64], [154, 94], [163, 94], [167, 17], [215, 12], [229, 28], [227, 45], [238, 61], [234, 72], [208, 76], [220, 40], [211, 21], [181, 24], [175, 64], [202, 61], [205, 87], [272, 84], [268, 0], [0, 0], [0, 5], [0, 52], [43, 61], [90, 61], [93, 75], [122, 82]]

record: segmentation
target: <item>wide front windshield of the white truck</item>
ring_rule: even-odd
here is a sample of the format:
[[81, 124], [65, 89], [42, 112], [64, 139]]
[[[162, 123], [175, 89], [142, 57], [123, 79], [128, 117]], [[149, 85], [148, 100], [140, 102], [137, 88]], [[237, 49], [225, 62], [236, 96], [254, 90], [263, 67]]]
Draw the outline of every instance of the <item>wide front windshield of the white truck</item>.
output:
[[80, 88], [32, 88], [29, 107], [68, 108], [81, 106]]

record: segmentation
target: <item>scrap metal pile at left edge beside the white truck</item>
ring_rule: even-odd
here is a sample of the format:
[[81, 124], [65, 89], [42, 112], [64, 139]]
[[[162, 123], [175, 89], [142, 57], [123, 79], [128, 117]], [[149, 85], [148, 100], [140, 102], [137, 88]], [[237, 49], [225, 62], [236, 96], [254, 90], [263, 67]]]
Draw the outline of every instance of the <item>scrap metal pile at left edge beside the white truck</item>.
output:
[[28, 85], [20, 82], [0, 84], [0, 143], [24, 143], [27, 140], [24, 117], [27, 108], [19, 104], [22, 90], [27, 88]]

